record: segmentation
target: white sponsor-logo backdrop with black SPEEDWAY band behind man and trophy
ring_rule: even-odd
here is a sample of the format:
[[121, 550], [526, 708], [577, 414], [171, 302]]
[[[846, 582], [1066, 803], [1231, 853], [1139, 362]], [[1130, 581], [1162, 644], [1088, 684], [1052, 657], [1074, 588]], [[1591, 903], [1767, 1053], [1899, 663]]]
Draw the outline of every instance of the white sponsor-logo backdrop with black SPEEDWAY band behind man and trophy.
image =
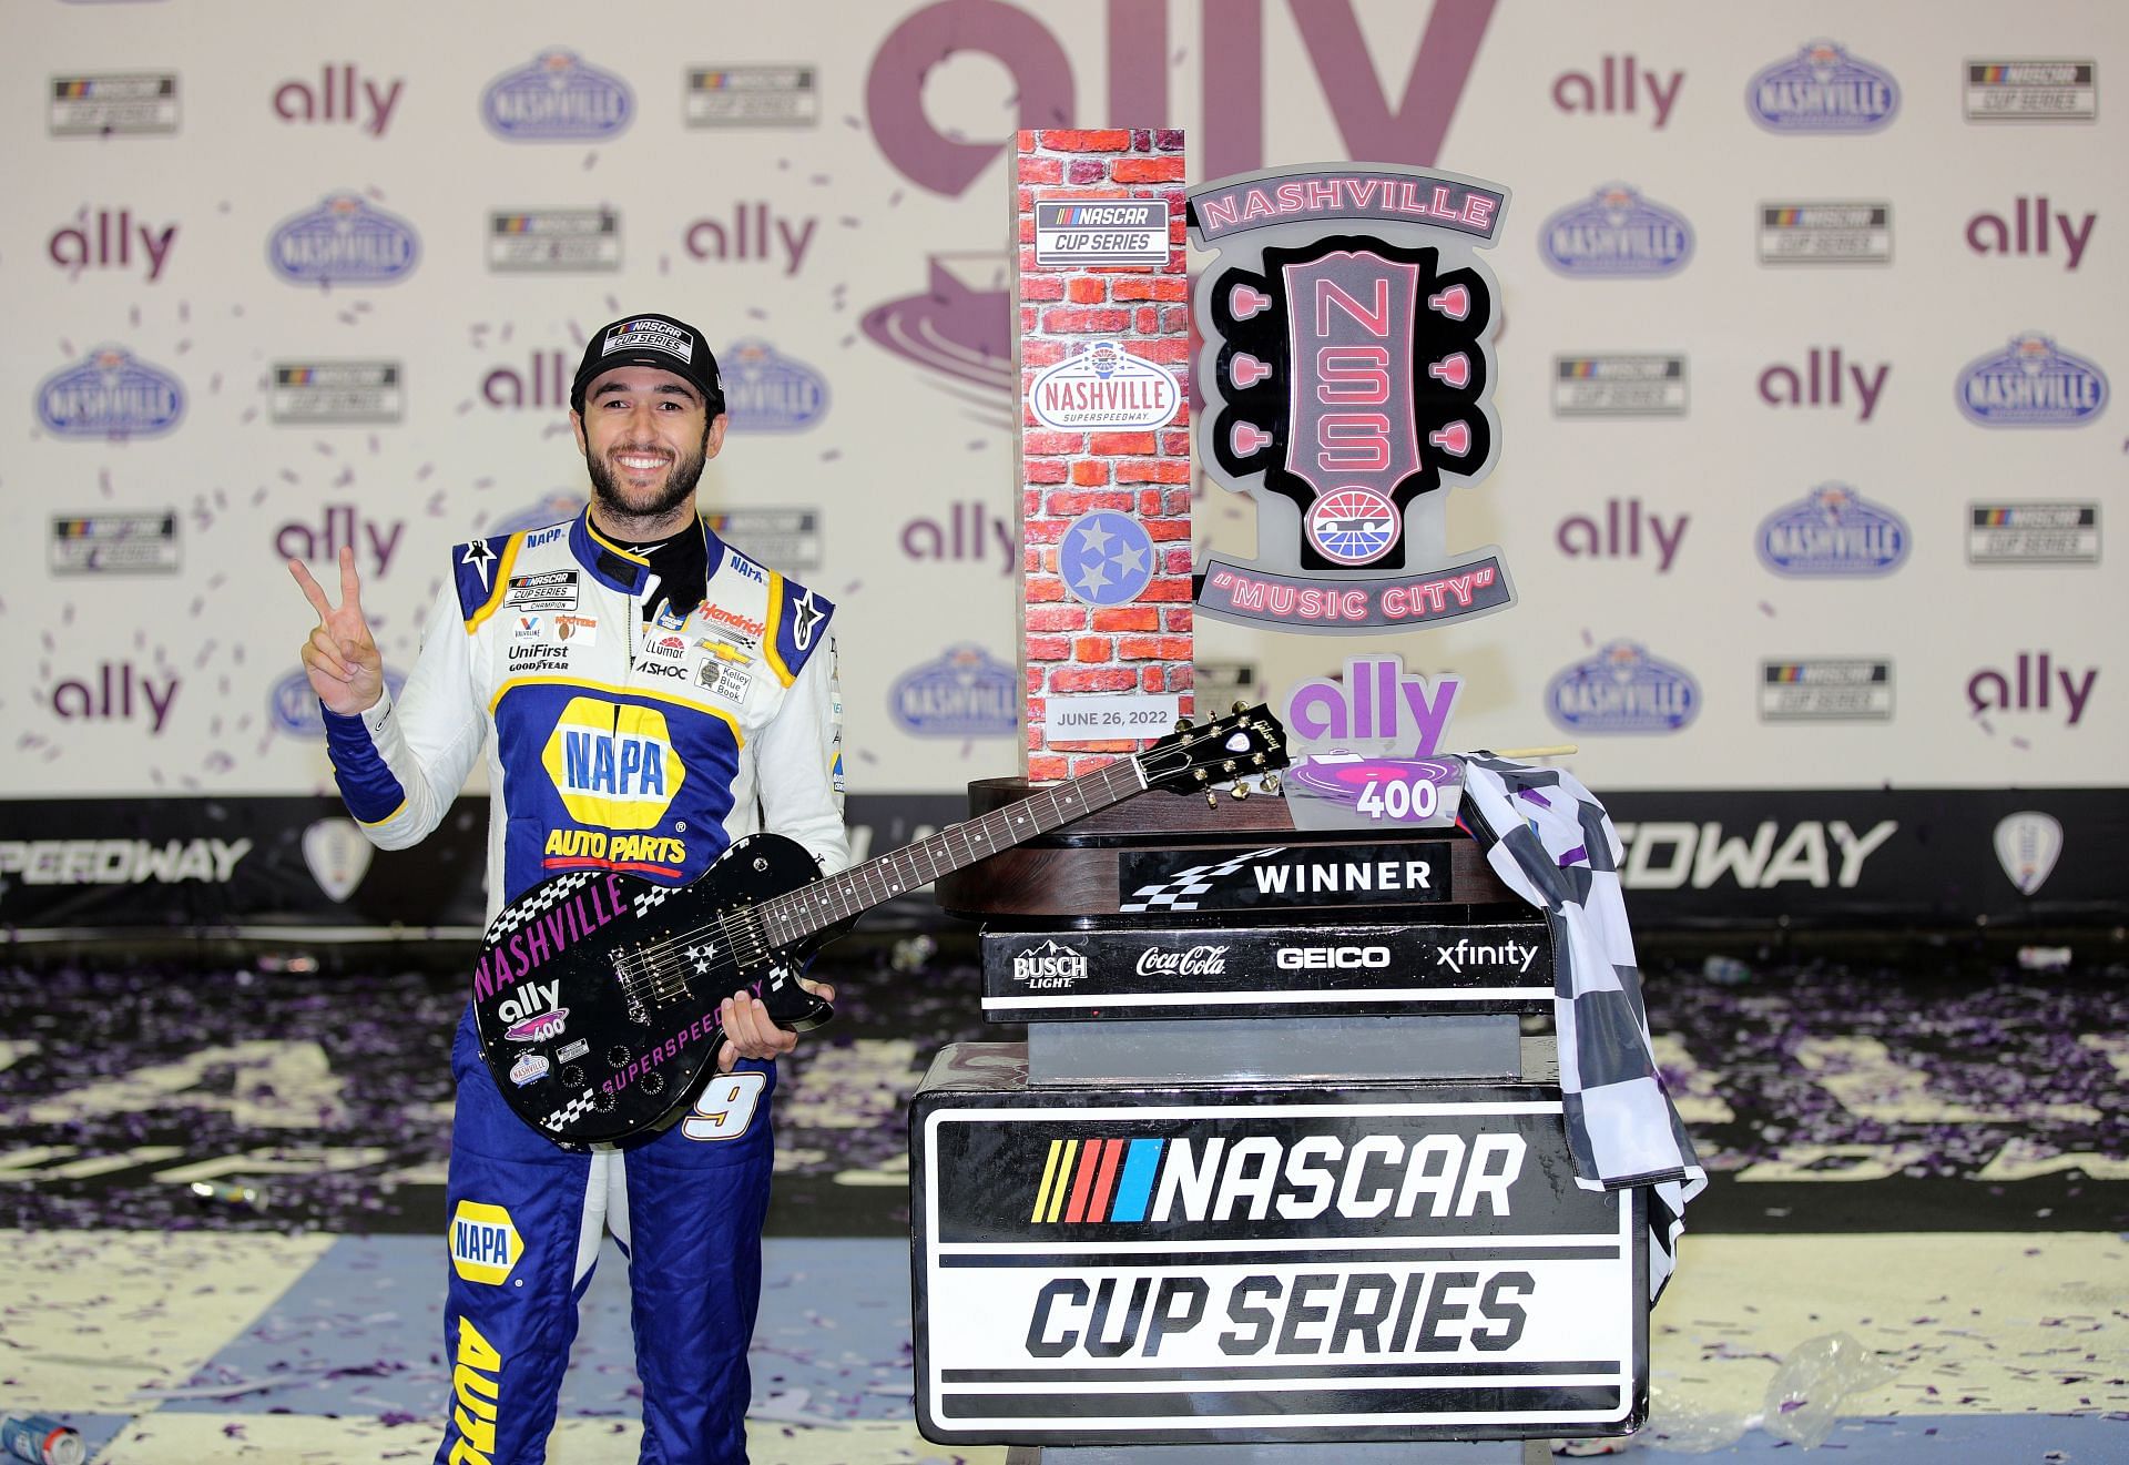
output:
[[2120, 6], [17, 11], [0, 924], [477, 920], [479, 799], [377, 858], [326, 799], [281, 560], [353, 547], [405, 671], [453, 541], [583, 503], [632, 309], [724, 362], [722, 532], [843, 607], [860, 845], [954, 818], [1020, 769], [1011, 136], [1118, 126], [1509, 190], [1448, 513], [1520, 605], [1201, 618], [1201, 698], [1454, 679], [1443, 747], [1580, 745], [1652, 920], [2123, 909]]

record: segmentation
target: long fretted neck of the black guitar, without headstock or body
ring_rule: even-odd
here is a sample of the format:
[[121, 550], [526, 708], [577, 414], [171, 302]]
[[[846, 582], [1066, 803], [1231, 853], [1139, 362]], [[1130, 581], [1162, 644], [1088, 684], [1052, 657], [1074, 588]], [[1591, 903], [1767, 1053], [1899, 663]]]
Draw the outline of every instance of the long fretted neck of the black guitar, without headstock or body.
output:
[[754, 909], [771, 945], [792, 945], [907, 890], [990, 858], [999, 850], [1011, 850], [1060, 824], [1122, 803], [1141, 788], [1145, 788], [1145, 775], [1139, 760], [1118, 758], [1069, 784], [1045, 788], [981, 818], [947, 824], [928, 839], [854, 865], [841, 875], [828, 875], [773, 901], [762, 901]]

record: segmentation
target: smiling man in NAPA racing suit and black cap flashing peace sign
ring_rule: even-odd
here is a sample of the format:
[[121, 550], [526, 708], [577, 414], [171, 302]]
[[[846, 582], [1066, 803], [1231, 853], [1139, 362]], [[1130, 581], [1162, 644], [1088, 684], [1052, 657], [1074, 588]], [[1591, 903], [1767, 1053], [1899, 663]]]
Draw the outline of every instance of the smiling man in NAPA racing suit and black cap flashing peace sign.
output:
[[[319, 618], [302, 664], [349, 811], [377, 845], [411, 845], [443, 820], [485, 743], [490, 918], [588, 865], [686, 884], [764, 824], [826, 869], [845, 867], [832, 607], [696, 515], [696, 481], [726, 430], [703, 334], [671, 315], [594, 334], [571, 426], [590, 507], [453, 549], [398, 701], [362, 618], [353, 556], [341, 556], [339, 605], [290, 562]], [[796, 1035], [747, 992], [724, 999], [720, 1018], [720, 1073], [705, 1090], [720, 1122], [573, 1152], [505, 1107], [468, 1007], [451, 1048], [449, 1207], [453, 1222], [485, 1222], [485, 1235], [500, 1212], [519, 1248], [498, 1278], [494, 1256], [466, 1265], [453, 1239], [445, 1356], [456, 1397], [439, 1465], [545, 1459], [603, 1231], [622, 1244], [634, 1293], [641, 1459], [745, 1459], [769, 1097], [775, 1056]], [[453, 1237], [464, 1233], [453, 1224]]]

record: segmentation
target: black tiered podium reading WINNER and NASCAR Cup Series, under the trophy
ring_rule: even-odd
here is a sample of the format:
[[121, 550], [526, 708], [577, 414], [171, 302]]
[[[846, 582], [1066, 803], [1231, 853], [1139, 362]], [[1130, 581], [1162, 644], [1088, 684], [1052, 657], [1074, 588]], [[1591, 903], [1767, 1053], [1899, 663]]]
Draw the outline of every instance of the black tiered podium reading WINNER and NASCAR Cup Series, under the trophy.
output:
[[945, 1048], [911, 1105], [928, 1439], [1522, 1461], [1646, 1418], [1644, 1192], [1575, 1186], [1522, 1031], [1552, 939], [1467, 835], [1141, 796], [939, 903], [1028, 1039]]

